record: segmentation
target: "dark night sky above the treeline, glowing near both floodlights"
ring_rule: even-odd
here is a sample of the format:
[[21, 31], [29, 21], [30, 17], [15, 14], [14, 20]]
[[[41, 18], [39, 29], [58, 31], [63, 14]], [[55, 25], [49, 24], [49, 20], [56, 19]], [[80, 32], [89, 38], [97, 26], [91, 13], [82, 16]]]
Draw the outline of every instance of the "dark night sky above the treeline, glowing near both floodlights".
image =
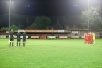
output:
[[[90, 0], [90, 4], [101, 3], [101, 0], [93, 1]], [[12, 0], [11, 13], [34, 16], [79, 15], [87, 5], [87, 0]], [[0, 14], [8, 14], [8, 11], [9, 0], [0, 0]]]

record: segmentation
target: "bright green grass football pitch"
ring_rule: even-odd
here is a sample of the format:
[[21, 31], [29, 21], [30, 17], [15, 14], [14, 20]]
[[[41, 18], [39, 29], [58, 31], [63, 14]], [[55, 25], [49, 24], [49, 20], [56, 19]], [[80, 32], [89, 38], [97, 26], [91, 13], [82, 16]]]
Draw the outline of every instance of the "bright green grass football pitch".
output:
[[101, 41], [28, 39], [26, 47], [9, 47], [0, 39], [0, 68], [102, 68]]

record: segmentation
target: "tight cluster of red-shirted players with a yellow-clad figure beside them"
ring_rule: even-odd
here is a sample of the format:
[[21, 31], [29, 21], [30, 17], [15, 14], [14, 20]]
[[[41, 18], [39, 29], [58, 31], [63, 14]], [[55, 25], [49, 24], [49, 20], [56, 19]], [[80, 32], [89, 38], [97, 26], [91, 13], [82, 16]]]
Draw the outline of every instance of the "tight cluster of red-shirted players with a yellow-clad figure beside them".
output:
[[87, 44], [95, 44], [95, 33], [84, 33], [84, 42]]

